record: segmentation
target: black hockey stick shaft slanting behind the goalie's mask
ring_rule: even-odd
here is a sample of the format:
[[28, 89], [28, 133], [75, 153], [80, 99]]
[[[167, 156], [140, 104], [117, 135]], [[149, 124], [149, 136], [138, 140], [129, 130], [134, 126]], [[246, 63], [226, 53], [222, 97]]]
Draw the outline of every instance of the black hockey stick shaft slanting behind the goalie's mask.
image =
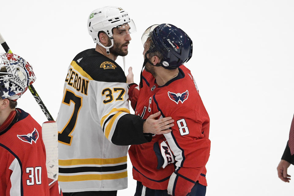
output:
[[[2, 45], [2, 47], [4, 48], [6, 53], [12, 53], [12, 51], [10, 50], [10, 48], [8, 47], [6, 41], [4, 40], [4, 38], [2, 37], [1, 33], [0, 33], [0, 43]], [[35, 88], [33, 87], [33, 85], [29, 85], [28, 89], [30, 90], [30, 92], [32, 93], [33, 97], [35, 98], [36, 102], [39, 104], [41, 110], [43, 111], [43, 113], [45, 114], [46, 118], [51, 121], [54, 120], [53, 117], [51, 116], [51, 114], [49, 113], [49, 111], [47, 110], [45, 104], [43, 103], [43, 101], [41, 100], [40, 96], [38, 95], [38, 93], [36, 92]]]

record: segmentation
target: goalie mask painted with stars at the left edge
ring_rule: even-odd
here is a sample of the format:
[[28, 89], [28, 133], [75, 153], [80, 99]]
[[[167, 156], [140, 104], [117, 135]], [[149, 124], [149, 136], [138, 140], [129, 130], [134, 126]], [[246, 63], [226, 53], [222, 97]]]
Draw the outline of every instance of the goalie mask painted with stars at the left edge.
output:
[[17, 100], [36, 81], [32, 66], [14, 54], [0, 54], [0, 96]]

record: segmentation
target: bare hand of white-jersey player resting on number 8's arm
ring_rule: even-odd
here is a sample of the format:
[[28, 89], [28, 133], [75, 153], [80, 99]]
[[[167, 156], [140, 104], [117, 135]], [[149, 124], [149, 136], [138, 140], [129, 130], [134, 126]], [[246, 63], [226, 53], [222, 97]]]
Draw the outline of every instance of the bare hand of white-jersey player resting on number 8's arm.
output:
[[146, 121], [143, 123], [143, 133], [151, 133], [151, 134], [167, 134], [171, 132], [169, 129], [172, 126], [174, 120], [171, 117], [165, 117], [162, 119], [156, 119], [160, 116], [160, 111], [150, 115]]

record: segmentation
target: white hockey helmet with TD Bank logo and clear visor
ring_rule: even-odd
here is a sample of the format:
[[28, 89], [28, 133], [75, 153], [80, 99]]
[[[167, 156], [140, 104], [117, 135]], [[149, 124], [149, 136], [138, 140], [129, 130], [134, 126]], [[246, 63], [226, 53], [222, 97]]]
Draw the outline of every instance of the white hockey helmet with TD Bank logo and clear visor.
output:
[[[113, 46], [113, 28], [129, 26], [130, 29], [127, 33], [136, 31], [136, 26], [134, 21], [130, 19], [129, 13], [123, 8], [113, 6], [106, 6], [92, 11], [88, 17], [87, 26], [89, 34], [92, 36], [94, 42], [104, 47], [107, 54], [109, 54], [109, 48]], [[105, 47], [99, 42], [98, 32], [100, 31], [104, 31], [108, 35], [111, 40], [111, 46]]]

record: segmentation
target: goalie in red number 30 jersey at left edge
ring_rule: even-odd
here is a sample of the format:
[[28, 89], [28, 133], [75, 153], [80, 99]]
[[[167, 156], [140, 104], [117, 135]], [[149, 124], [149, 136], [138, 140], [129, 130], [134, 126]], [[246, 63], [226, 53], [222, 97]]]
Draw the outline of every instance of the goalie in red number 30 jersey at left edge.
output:
[[49, 191], [41, 126], [15, 108], [36, 80], [32, 67], [18, 55], [1, 53], [0, 68], [0, 195], [60, 196], [58, 183]]

